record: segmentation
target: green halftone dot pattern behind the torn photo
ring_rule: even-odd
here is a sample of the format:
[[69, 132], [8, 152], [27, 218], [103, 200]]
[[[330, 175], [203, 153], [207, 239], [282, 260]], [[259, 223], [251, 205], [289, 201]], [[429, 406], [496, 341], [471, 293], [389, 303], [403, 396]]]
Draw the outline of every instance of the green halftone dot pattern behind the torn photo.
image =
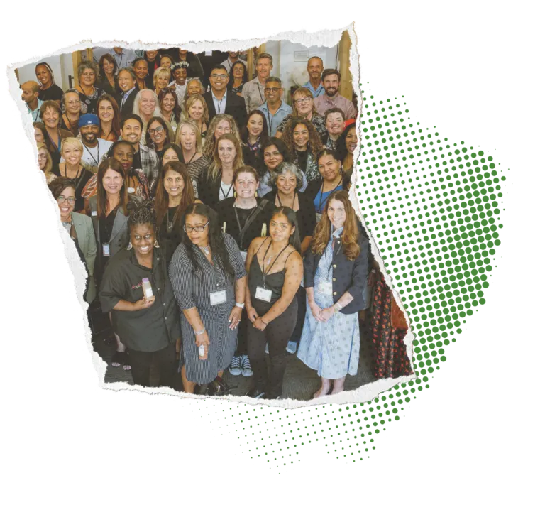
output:
[[[372, 86], [365, 79], [360, 87]], [[397, 430], [431, 390], [447, 348], [458, 344], [476, 310], [488, 303], [499, 269], [507, 180], [497, 151], [453, 143], [420, 121], [404, 94], [364, 102], [356, 194], [411, 317], [418, 379], [365, 405], [287, 412], [211, 404], [201, 412], [202, 420], [216, 415], [205, 428], [212, 436], [238, 442], [235, 456], [249, 454], [254, 465], [266, 461], [267, 469], [280, 475], [300, 464], [302, 450], [313, 452], [312, 444], [351, 469], [372, 459], [379, 449], [375, 437]], [[222, 432], [224, 426], [233, 432]]]

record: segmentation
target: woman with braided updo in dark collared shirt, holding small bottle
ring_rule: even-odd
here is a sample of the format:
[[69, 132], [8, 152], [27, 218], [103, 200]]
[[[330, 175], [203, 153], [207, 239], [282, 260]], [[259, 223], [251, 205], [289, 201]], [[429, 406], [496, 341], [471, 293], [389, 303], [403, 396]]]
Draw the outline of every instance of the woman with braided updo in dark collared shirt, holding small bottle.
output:
[[[102, 311], [111, 312], [114, 328], [128, 349], [134, 384], [150, 386], [151, 366], [158, 386], [173, 386], [180, 315], [168, 277], [172, 249], [157, 239], [153, 202], [138, 204], [128, 217], [131, 240], [109, 262], [100, 288]], [[144, 289], [148, 282], [151, 294]]]

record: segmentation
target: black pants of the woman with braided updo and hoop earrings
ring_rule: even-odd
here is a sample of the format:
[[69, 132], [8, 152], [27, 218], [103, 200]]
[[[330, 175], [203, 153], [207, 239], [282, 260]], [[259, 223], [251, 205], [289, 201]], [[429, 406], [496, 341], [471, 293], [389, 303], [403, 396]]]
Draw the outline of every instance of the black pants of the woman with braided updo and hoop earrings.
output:
[[153, 361], [159, 370], [159, 386], [172, 387], [175, 375], [175, 354], [176, 342], [158, 352], [138, 352], [128, 347], [128, 360], [131, 363], [134, 384], [150, 386], [150, 369]]

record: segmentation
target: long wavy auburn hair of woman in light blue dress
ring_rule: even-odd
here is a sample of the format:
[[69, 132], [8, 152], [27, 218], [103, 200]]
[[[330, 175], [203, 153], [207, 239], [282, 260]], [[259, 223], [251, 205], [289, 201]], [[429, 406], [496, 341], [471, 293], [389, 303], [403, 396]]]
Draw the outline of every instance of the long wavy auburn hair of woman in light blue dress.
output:
[[361, 251], [359, 244], [360, 230], [358, 228], [358, 217], [356, 217], [356, 212], [354, 212], [352, 208], [346, 190], [333, 192], [333, 194], [327, 198], [324, 213], [321, 216], [320, 222], [316, 225], [316, 229], [314, 229], [314, 236], [312, 237], [310, 249], [313, 254], [321, 255], [324, 254], [324, 250], [329, 244], [329, 239], [331, 238], [331, 221], [327, 215], [327, 209], [329, 208], [329, 203], [333, 200], [340, 201], [344, 206], [346, 221], [344, 222], [342, 235], [343, 252], [350, 261], [354, 261], [354, 259], [360, 255]]

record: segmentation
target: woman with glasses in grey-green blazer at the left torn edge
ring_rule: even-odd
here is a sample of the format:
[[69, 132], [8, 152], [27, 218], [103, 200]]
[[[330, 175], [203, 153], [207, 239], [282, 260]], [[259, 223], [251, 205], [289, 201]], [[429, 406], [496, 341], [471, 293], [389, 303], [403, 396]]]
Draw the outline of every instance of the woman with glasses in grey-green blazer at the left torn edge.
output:
[[76, 203], [76, 185], [70, 178], [55, 178], [49, 184], [49, 190], [57, 200], [60, 210], [60, 221], [70, 237], [79, 245], [84, 256], [89, 281], [85, 300], [92, 303], [97, 290], [94, 284], [94, 260], [97, 257], [97, 240], [94, 236], [93, 222], [89, 216], [74, 212]]

